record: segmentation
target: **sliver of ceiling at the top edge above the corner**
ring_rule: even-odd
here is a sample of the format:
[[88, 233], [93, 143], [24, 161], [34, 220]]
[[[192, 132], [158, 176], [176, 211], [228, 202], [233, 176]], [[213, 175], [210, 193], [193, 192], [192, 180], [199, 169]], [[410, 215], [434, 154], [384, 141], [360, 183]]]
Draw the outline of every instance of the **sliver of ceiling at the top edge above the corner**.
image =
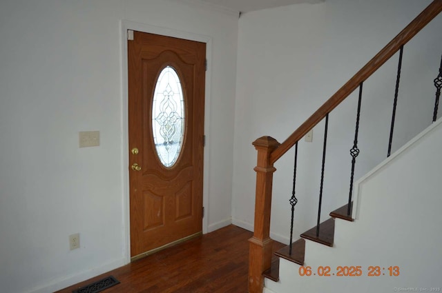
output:
[[202, 0], [229, 10], [250, 12], [267, 8], [287, 6], [297, 3], [319, 3], [325, 0]]

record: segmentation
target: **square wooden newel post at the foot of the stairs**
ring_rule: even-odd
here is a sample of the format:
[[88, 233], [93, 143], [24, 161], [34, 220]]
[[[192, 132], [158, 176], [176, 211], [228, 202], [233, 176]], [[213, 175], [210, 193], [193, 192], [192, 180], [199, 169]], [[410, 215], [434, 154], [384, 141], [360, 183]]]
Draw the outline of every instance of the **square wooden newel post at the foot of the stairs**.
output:
[[273, 240], [270, 239], [271, 185], [276, 169], [270, 154], [280, 143], [272, 137], [253, 141], [258, 150], [256, 168], [255, 228], [249, 239], [249, 293], [261, 293], [264, 286], [262, 273], [270, 268]]

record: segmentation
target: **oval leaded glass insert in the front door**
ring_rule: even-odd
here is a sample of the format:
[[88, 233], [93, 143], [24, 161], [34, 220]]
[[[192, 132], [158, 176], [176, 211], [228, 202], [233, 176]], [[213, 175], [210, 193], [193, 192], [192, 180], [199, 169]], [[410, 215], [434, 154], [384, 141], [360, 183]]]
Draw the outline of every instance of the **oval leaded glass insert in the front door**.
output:
[[152, 132], [155, 150], [161, 163], [172, 167], [180, 156], [185, 129], [184, 96], [180, 77], [166, 66], [153, 92]]

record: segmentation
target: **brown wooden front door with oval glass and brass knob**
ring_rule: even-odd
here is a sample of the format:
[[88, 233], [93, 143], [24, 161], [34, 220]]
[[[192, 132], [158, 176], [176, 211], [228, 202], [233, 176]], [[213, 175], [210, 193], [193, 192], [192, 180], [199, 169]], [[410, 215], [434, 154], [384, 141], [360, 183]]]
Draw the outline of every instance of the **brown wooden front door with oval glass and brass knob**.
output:
[[206, 44], [128, 41], [131, 256], [202, 232]]

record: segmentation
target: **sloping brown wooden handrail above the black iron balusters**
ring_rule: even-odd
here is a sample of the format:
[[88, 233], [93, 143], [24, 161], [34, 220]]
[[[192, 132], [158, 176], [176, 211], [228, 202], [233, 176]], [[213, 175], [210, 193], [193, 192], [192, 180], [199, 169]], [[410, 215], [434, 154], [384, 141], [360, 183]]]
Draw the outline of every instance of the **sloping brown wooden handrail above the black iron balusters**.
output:
[[314, 114], [309, 117], [300, 127], [295, 130], [281, 145], [273, 150], [270, 155], [271, 163], [275, 163], [285, 154], [297, 141], [307, 134], [316, 124], [324, 119], [325, 115], [331, 112], [337, 105], [352, 94], [356, 88], [367, 80], [383, 63], [390, 59], [400, 48], [412, 37], [422, 30], [427, 23], [432, 21], [442, 11], [442, 0], [434, 0], [425, 8], [408, 26], [406, 26], [390, 43], [387, 44], [372, 60], [358, 71], [340, 88], [330, 99], [328, 99]]

